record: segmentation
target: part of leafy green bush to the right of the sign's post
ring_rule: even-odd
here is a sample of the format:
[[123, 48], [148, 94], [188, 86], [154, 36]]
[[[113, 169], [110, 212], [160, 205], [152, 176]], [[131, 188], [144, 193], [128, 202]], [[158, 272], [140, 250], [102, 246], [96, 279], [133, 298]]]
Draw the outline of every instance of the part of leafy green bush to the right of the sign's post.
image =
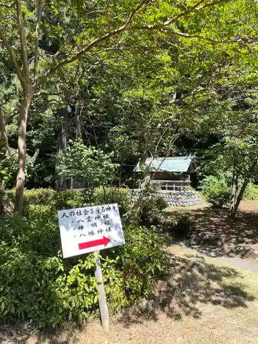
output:
[[[116, 266], [113, 268], [119, 274], [117, 280], [106, 277], [110, 288], [116, 286], [115, 289], [122, 292], [122, 298], [119, 299], [119, 294], [115, 294], [114, 288], [111, 288], [109, 297], [112, 305], [127, 305], [129, 301], [149, 292], [153, 281], [166, 272], [165, 248], [168, 242], [168, 237], [153, 233], [149, 228], [127, 226], [125, 245], [115, 250], [103, 251], [104, 257], [107, 254], [109, 259], [116, 259]], [[107, 272], [104, 272], [107, 276]], [[110, 270], [108, 273], [110, 274]], [[122, 302], [116, 304], [117, 299]]]

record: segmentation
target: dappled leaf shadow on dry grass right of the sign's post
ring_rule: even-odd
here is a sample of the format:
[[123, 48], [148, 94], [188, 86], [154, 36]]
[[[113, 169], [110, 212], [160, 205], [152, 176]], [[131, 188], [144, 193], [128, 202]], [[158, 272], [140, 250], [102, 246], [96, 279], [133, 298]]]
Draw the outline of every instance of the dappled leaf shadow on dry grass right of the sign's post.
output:
[[173, 275], [158, 283], [158, 288], [148, 300], [137, 308], [127, 308], [119, 321], [125, 327], [151, 319], [158, 321], [160, 312], [171, 319], [183, 316], [202, 316], [202, 304], [221, 305], [224, 308], [247, 308], [255, 297], [244, 291], [244, 283], [226, 283], [226, 279], [240, 277], [233, 268], [206, 264], [202, 257], [190, 259], [170, 255]]

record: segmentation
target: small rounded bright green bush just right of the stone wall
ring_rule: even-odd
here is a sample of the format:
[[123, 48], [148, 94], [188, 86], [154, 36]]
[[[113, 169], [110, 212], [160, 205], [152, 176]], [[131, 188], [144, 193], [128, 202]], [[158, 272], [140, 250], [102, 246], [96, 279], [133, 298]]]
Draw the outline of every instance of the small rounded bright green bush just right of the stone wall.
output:
[[224, 178], [218, 179], [213, 175], [202, 180], [200, 188], [206, 200], [217, 208], [228, 204], [230, 201], [230, 188]]

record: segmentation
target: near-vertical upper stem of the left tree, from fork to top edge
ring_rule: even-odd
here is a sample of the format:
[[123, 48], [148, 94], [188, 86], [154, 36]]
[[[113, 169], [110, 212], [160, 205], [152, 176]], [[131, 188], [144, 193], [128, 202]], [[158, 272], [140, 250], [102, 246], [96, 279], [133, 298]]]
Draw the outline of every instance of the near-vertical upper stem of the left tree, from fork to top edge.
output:
[[29, 65], [28, 65], [28, 53], [27, 53], [27, 42], [26, 42], [26, 35], [25, 29], [23, 25], [23, 15], [21, 11], [21, 2], [20, 0], [15, 0], [16, 2], [16, 9], [17, 9], [17, 19], [19, 23], [19, 34], [20, 34], [20, 42], [21, 42], [21, 58], [23, 61], [23, 74], [26, 83], [30, 83], [30, 74], [29, 74]]

